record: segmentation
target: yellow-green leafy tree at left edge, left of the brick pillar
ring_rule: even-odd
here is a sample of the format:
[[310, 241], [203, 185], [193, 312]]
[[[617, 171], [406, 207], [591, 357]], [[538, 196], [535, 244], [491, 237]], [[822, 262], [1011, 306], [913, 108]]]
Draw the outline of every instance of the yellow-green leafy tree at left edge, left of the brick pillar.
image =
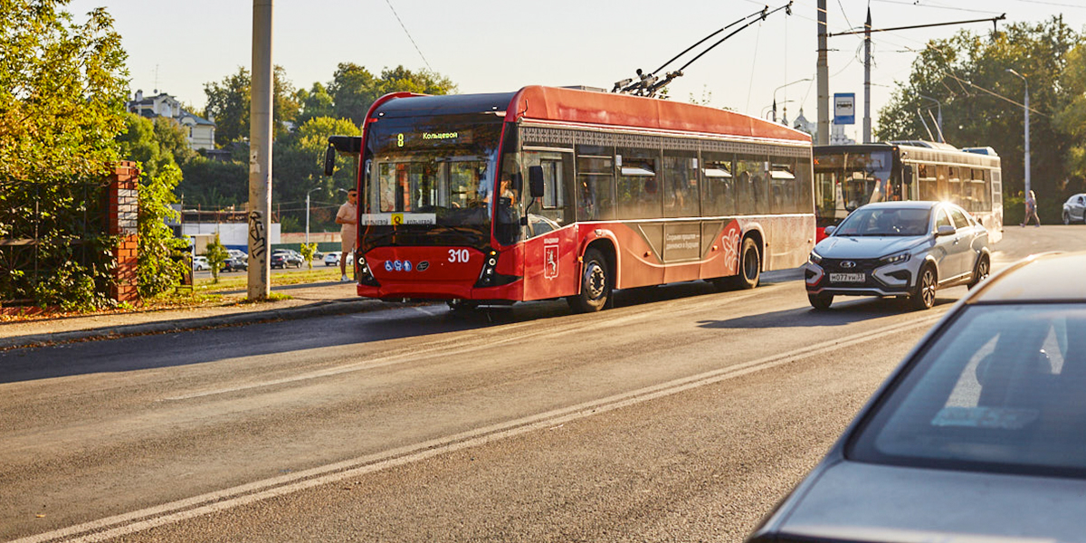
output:
[[76, 24], [66, 3], [0, 4], [0, 238], [37, 239], [0, 251], [0, 299], [89, 308], [111, 303], [116, 240], [87, 216], [117, 160], [126, 54], [104, 9]]

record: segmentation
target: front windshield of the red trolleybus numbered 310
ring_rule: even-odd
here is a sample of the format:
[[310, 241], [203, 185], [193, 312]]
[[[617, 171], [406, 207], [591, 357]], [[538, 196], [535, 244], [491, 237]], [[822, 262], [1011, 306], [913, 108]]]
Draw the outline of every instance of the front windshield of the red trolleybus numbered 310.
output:
[[489, 242], [502, 125], [480, 117], [393, 117], [368, 126], [365, 244]]

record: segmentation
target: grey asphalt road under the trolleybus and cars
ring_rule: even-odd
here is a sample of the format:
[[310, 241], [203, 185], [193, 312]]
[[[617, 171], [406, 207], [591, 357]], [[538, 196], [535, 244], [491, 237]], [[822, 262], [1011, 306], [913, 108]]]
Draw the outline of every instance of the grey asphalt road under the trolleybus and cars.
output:
[[965, 292], [816, 313], [795, 277], [0, 353], [0, 539], [741, 541]]

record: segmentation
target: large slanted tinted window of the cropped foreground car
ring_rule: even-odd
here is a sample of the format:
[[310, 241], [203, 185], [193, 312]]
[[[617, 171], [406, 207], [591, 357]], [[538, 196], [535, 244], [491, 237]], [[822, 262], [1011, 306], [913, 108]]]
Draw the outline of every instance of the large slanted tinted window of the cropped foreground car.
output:
[[976, 305], [868, 417], [861, 462], [1086, 476], [1086, 305]]

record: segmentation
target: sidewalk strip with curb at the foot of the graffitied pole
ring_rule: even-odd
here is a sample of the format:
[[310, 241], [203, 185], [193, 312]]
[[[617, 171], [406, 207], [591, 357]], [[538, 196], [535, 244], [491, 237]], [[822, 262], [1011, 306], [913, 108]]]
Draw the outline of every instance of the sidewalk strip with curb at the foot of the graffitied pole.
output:
[[90, 339], [165, 333], [198, 328], [237, 326], [269, 320], [291, 320], [321, 315], [372, 311], [381, 302], [355, 294], [354, 282], [312, 282], [275, 287], [290, 300], [236, 304], [244, 291], [222, 292], [219, 306], [182, 307], [132, 313], [100, 314], [52, 319], [0, 323], [0, 351]]

